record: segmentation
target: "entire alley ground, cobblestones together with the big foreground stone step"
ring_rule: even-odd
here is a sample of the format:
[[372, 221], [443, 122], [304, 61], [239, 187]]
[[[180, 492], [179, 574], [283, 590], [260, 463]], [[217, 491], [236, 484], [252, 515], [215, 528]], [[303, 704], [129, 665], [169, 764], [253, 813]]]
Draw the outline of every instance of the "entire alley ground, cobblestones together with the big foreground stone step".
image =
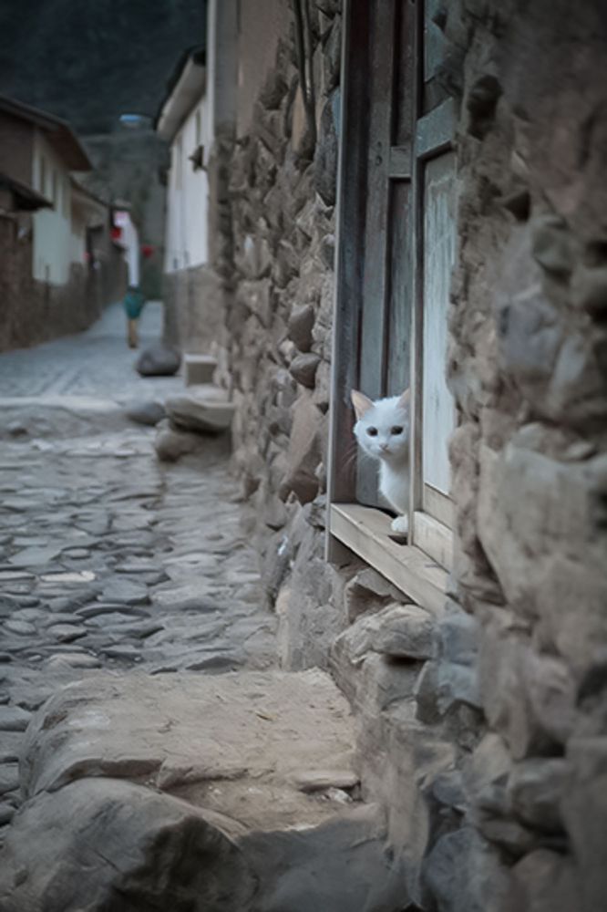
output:
[[0, 357], [0, 906], [400, 909], [345, 698], [277, 668], [228, 438], [159, 463], [127, 409], [182, 379], [135, 358], [116, 307]]

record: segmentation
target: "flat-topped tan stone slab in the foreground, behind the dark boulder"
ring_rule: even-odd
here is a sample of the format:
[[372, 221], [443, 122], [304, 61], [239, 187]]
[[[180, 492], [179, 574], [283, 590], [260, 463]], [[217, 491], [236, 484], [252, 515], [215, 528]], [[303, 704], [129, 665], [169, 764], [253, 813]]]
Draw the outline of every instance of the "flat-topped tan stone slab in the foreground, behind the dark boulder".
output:
[[85, 776], [146, 782], [249, 827], [310, 825], [338, 807], [327, 789], [353, 776], [353, 720], [318, 670], [221, 676], [99, 674], [36, 713], [21, 760], [26, 797]]

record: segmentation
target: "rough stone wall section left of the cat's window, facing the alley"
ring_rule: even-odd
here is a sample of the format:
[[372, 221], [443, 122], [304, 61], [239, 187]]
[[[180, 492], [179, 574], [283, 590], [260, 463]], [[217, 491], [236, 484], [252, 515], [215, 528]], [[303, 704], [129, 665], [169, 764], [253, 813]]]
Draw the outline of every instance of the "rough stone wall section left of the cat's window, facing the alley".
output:
[[314, 7], [304, 36], [315, 101], [315, 116], [306, 119], [291, 4], [276, 0], [266, 10], [261, 57], [244, 40], [257, 5], [243, 5], [239, 53], [252, 50], [239, 70], [254, 70], [260, 88], [250, 124], [240, 117], [235, 138], [221, 137], [210, 164], [211, 259], [225, 320], [221, 375], [236, 405], [234, 462], [288, 668], [326, 667], [342, 627], [323, 534], [339, 6]]

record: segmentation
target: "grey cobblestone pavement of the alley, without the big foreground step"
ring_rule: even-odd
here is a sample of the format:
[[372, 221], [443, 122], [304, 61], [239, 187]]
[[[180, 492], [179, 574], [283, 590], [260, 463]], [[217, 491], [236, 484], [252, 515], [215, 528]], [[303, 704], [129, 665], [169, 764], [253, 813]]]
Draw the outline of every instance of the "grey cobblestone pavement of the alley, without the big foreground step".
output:
[[[166, 468], [153, 429], [95, 408], [181, 387], [139, 378], [123, 329], [112, 308], [82, 336], [0, 356], [0, 827], [30, 715], [63, 684], [273, 664], [226, 442]], [[149, 308], [144, 335], [158, 331]]]

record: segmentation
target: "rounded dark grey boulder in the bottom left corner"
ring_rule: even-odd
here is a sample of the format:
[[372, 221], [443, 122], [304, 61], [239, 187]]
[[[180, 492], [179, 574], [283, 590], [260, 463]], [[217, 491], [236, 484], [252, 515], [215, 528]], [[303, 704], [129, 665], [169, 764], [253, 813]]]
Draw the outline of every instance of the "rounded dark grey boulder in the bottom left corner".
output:
[[6, 912], [127, 912], [168, 908], [179, 895], [192, 908], [245, 909], [255, 878], [231, 838], [239, 829], [130, 782], [73, 782], [40, 794], [13, 824], [0, 904]]

